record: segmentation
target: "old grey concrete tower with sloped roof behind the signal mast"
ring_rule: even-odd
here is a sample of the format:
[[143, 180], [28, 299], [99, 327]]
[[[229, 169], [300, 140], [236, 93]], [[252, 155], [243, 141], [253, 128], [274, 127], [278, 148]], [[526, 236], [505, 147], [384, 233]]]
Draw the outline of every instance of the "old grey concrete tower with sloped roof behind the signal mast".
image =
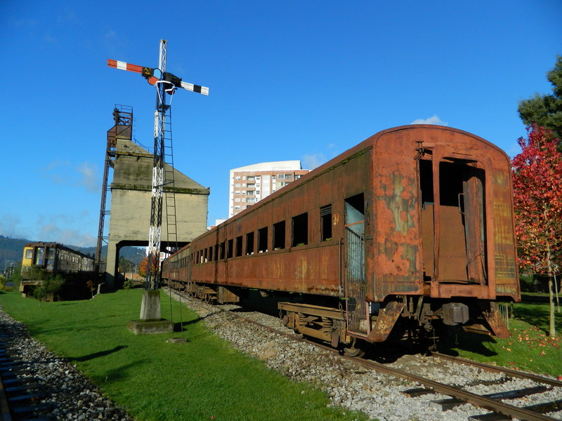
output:
[[[124, 246], [148, 246], [153, 167], [152, 154], [131, 142], [130, 137], [117, 136], [112, 154], [115, 159], [112, 161], [114, 171], [110, 185], [110, 227], [105, 269], [105, 280], [110, 287], [115, 286], [119, 249]], [[166, 166], [166, 173], [171, 173], [169, 166]], [[175, 193], [172, 211], [176, 232], [172, 233], [170, 229], [170, 241], [174, 244], [169, 244], [166, 229], [166, 208], [171, 206], [171, 203], [166, 206], [166, 192]], [[174, 187], [164, 187], [162, 248], [175, 246], [176, 235], [178, 246], [184, 246], [205, 232], [209, 192], [209, 188], [174, 169]]]

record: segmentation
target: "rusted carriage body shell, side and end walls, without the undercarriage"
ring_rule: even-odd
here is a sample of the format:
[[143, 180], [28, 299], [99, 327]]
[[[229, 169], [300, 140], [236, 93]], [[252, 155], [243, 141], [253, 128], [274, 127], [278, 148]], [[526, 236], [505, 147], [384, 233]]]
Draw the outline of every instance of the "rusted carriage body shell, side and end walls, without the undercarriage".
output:
[[[424, 204], [423, 212], [421, 161], [433, 174], [427, 178], [433, 177], [429, 182], [437, 203]], [[439, 203], [441, 162], [460, 162], [459, 168], [480, 174], [476, 178], [481, 185], [465, 182], [462, 194], [471, 196], [465, 201], [476, 213], [466, 215], [463, 223], [459, 221], [464, 217], [453, 212], [455, 206]], [[216, 244], [235, 242], [238, 236], [244, 238], [244, 253], [194, 262], [192, 281], [343, 297], [345, 201], [358, 194], [365, 202], [367, 301], [380, 302], [388, 295], [518, 300], [509, 159], [481, 138], [439, 126], [377, 133], [198, 237], [190, 253], [211, 247], [215, 253]], [[331, 241], [320, 238], [320, 208], [326, 205], [332, 206]], [[292, 246], [292, 218], [303, 213], [308, 214], [308, 242]], [[285, 221], [285, 248], [273, 250], [273, 225], [280, 221]], [[264, 227], [267, 251], [259, 253], [256, 237]], [[457, 250], [463, 227], [466, 245], [459, 244]], [[254, 233], [254, 254], [245, 255], [249, 232]], [[478, 253], [468, 249], [478, 249], [483, 239], [476, 259]], [[467, 281], [455, 282], [463, 272]], [[188, 276], [187, 270], [181, 273]]]

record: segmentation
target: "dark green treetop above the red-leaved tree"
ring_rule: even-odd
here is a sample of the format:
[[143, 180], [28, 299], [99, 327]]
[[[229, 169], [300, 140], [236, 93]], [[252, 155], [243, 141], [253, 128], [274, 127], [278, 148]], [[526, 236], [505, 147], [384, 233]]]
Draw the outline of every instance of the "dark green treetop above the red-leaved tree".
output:
[[519, 102], [519, 116], [523, 123], [554, 131], [558, 140], [562, 140], [562, 56], [556, 57], [554, 69], [547, 73], [547, 79], [552, 83], [553, 95], [539, 95]]

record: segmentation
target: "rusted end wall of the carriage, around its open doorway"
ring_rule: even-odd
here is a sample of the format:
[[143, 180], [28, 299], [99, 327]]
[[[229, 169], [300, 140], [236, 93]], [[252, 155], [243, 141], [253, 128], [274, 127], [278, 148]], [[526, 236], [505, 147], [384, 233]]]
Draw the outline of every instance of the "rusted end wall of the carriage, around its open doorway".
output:
[[[378, 133], [372, 142], [376, 220], [372, 256], [374, 272], [368, 278], [372, 282], [372, 298], [384, 300], [387, 295], [429, 293], [433, 298], [457, 296], [495, 300], [503, 295], [518, 300], [507, 155], [475, 135], [438, 126], [395, 128]], [[460, 250], [464, 246], [458, 239], [458, 230], [455, 231], [451, 226], [458, 217], [449, 216], [450, 208], [433, 206], [433, 213], [426, 213], [426, 220], [423, 220], [416, 159], [429, 159], [432, 162], [436, 203], [440, 196], [440, 162], [465, 162], [467, 168], [475, 168], [475, 171], [485, 174], [485, 185], [482, 187], [484, 203], [475, 205], [481, 206], [481, 212], [485, 215], [482, 222], [485, 228], [473, 220], [468, 222], [472, 218], [469, 215], [464, 217], [467, 219], [463, 224], [471, 223], [473, 231], [483, 230], [486, 243], [482, 253], [485, 256], [478, 260], [478, 265], [483, 265], [482, 261], [485, 260], [485, 275], [479, 274], [482, 269], [470, 259], [462, 264]], [[426, 229], [426, 225], [434, 220], [439, 221], [436, 223], [436, 232], [424, 244], [421, 239], [428, 235], [424, 234], [424, 227]], [[477, 242], [479, 235], [477, 232], [467, 232], [467, 244], [470, 241]], [[459, 243], [460, 254], [455, 250], [455, 242]], [[469, 251], [465, 253], [469, 255]], [[430, 259], [434, 259], [434, 267], [423, 267], [423, 262]], [[450, 283], [450, 279], [458, 276], [459, 267], [461, 271], [468, 271], [469, 276], [480, 276], [480, 281], [475, 281], [480, 284]], [[433, 278], [431, 283], [426, 279], [424, 285], [422, 270], [426, 276]]]

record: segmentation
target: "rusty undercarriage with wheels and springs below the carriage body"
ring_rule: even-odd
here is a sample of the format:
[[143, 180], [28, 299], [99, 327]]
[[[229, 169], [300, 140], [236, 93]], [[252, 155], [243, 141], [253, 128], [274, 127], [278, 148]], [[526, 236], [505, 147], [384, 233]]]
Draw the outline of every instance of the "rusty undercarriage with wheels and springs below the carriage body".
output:
[[[181, 290], [200, 300], [216, 304], [246, 302], [249, 290], [204, 283], [169, 281], [169, 287]], [[346, 300], [332, 301], [329, 305], [315, 303], [313, 297], [256, 290], [259, 298], [270, 300], [269, 312], [280, 314], [281, 324], [295, 333], [329, 343], [349, 356], [360, 356], [376, 343], [400, 343], [426, 351], [438, 344], [446, 327], [462, 328], [473, 333], [507, 338], [497, 302], [482, 300], [431, 300], [423, 296], [395, 296], [386, 302], [365, 302], [362, 307], [368, 317], [363, 323], [366, 335], [349, 329]], [[311, 302], [306, 302], [311, 300]], [[290, 300], [290, 301], [288, 301]], [[273, 303], [273, 304], [272, 304]], [[355, 304], [353, 304], [355, 305]], [[356, 305], [355, 305], [356, 306]], [[265, 307], [263, 307], [265, 308]], [[355, 311], [355, 309], [353, 309]]]

